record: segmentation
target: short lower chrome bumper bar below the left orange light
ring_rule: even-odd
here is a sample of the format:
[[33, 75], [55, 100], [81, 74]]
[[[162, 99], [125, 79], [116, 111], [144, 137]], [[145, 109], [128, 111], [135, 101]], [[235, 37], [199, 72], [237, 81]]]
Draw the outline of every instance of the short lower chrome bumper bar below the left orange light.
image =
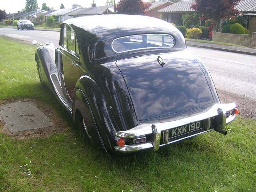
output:
[[139, 144], [132, 144], [132, 145], [124, 145], [124, 146], [115, 146], [115, 150], [122, 152], [122, 153], [130, 153], [130, 152], [137, 152], [139, 150], [145, 150], [153, 148], [153, 144], [151, 141]]

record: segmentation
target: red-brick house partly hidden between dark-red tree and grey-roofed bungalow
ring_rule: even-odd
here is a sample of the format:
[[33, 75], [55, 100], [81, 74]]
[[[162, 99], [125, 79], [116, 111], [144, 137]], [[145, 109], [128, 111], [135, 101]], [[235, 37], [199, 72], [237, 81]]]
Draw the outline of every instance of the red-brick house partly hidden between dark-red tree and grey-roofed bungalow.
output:
[[171, 2], [170, 0], [162, 0], [162, 1], [149, 0], [149, 2], [151, 3], [151, 6], [150, 8], [148, 8], [146, 15], [150, 17], [155, 17], [155, 18], [161, 18], [162, 13], [157, 12], [158, 10], [174, 4], [174, 2]]

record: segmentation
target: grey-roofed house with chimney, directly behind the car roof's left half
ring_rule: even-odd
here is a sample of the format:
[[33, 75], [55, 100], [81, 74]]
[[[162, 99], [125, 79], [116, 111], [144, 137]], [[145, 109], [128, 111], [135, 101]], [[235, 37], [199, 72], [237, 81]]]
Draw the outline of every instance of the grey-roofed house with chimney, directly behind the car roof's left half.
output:
[[101, 15], [101, 14], [113, 14], [113, 13], [114, 13], [114, 5], [96, 7], [96, 4], [93, 1], [91, 7], [77, 10], [72, 14], [70, 14], [70, 16], [72, 18], [75, 18], [75, 17], [82, 17], [82, 16], [89, 16], [89, 15], [96, 15], [96, 14]]

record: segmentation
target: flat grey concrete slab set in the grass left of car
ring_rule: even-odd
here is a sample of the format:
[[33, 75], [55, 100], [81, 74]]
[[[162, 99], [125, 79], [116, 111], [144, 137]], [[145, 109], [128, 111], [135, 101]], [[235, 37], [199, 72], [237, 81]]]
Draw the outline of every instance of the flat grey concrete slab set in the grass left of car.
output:
[[33, 102], [14, 102], [0, 106], [4, 128], [11, 132], [34, 130], [54, 126]]

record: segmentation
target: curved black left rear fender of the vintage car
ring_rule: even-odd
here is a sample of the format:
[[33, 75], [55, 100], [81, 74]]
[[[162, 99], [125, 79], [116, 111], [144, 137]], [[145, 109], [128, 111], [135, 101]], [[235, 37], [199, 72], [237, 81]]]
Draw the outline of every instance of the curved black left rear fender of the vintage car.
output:
[[[116, 132], [117, 124], [102, 91], [88, 75], [81, 76], [76, 83], [73, 112], [75, 113], [77, 109], [85, 116], [86, 112], [91, 111], [95, 121], [95, 132], [98, 132], [105, 149], [111, 153], [116, 146], [114, 132]], [[76, 115], [74, 113], [73, 118], [75, 120]]]

